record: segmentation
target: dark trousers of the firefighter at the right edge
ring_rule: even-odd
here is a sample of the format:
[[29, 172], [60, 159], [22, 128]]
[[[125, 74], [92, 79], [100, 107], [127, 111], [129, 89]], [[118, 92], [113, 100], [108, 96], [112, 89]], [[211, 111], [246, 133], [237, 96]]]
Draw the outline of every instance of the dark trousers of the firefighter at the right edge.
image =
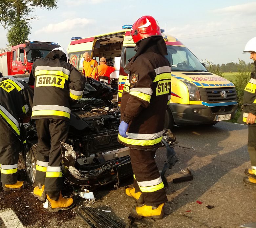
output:
[[256, 127], [248, 126], [248, 153], [252, 169], [256, 170]]

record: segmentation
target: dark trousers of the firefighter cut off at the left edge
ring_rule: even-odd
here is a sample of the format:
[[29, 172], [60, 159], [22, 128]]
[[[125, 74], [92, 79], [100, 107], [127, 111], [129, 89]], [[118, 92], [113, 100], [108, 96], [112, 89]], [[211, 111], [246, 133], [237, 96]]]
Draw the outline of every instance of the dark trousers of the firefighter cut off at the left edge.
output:
[[21, 141], [0, 117], [0, 171], [2, 184], [17, 182]]

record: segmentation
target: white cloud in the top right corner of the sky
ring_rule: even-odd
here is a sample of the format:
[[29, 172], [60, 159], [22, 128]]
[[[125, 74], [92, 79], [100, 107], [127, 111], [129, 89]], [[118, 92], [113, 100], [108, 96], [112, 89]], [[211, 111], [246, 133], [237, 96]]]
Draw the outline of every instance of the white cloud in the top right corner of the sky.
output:
[[255, 14], [256, 2], [249, 2], [236, 6], [229, 6], [217, 10], [213, 10], [214, 13], [228, 13], [234, 15], [249, 15]]

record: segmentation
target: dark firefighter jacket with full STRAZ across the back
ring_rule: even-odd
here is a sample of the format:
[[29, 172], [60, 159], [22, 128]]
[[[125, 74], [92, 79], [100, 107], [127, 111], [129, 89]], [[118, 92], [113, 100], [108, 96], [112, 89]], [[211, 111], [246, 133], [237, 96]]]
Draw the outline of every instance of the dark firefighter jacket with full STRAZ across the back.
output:
[[32, 66], [29, 82], [34, 80], [32, 119], [69, 121], [70, 105], [82, 98], [85, 79], [73, 65], [60, 59], [60, 51], [52, 52]]

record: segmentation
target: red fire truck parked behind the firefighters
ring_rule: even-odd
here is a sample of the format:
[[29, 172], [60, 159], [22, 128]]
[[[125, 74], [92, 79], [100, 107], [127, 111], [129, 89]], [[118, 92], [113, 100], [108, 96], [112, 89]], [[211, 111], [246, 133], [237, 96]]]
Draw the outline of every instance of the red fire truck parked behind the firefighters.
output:
[[35, 58], [44, 58], [58, 43], [30, 41], [0, 49], [0, 72], [3, 76], [30, 73]]

